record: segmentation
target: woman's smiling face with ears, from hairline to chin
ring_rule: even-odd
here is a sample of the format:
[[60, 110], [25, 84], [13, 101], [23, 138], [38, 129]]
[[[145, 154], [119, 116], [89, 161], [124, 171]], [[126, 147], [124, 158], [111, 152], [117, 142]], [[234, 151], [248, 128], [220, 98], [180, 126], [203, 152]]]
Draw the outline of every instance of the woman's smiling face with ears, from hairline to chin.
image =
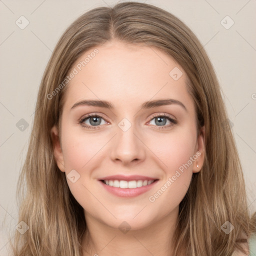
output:
[[[54, 156], [85, 218], [139, 229], [177, 212], [192, 173], [202, 166], [203, 129], [196, 136], [188, 79], [170, 56], [118, 41], [96, 48], [86, 65], [81, 61], [93, 49], [72, 67], [77, 73], [65, 95], [61, 146], [57, 127], [51, 129]], [[85, 100], [108, 101], [112, 108], [76, 104]], [[122, 181], [107, 185], [104, 178]]]

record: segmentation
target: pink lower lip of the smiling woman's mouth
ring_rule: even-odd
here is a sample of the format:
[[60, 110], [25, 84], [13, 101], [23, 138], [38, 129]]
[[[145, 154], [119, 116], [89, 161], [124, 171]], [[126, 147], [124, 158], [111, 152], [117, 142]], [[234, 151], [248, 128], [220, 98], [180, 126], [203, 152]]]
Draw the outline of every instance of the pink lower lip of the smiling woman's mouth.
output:
[[100, 180], [98, 181], [107, 191], [120, 197], [133, 197], [133, 196], [137, 196], [139, 194], [145, 193], [146, 191], [150, 190], [158, 182], [158, 180], [155, 180], [149, 185], [140, 186], [136, 188], [120, 188], [120, 187], [106, 185]]

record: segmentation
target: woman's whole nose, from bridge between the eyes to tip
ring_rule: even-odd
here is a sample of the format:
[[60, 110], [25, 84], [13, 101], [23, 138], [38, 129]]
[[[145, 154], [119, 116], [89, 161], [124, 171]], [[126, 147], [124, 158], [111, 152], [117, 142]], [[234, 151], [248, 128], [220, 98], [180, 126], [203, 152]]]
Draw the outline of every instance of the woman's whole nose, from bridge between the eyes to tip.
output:
[[116, 127], [114, 146], [111, 148], [111, 158], [123, 162], [144, 157], [143, 143], [138, 139], [140, 132], [137, 131], [133, 121], [123, 118]]

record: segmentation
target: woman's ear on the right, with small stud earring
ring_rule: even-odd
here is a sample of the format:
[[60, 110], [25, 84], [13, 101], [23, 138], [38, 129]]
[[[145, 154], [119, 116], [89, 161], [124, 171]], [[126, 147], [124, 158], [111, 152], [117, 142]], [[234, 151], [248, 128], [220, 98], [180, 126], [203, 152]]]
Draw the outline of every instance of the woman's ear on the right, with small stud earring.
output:
[[197, 159], [194, 160], [193, 162], [193, 173], [199, 172], [203, 164], [204, 155], [205, 155], [204, 139], [205, 139], [205, 126], [202, 126], [199, 130], [199, 134], [197, 137], [197, 143], [195, 148], [195, 154], [197, 155]]

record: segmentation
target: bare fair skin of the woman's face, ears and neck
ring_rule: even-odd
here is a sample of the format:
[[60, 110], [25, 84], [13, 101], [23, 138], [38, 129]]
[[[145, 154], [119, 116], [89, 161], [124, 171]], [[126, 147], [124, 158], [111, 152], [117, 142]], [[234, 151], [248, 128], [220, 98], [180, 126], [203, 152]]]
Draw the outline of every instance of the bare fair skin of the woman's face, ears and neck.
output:
[[[71, 193], [84, 209], [90, 248], [83, 255], [170, 255], [177, 223], [178, 205], [193, 173], [200, 171], [204, 158], [204, 127], [196, 136], [196, 114], [186, 89], [187, 76], [170, 56], [156, 48], [110, 41], [97, 47], [99, 52], [69, 82], [61, 116], [61, 137], [51, 129], [54, 157], [67, 175], [75, 169], [80, 177]], [[93, 49], [92, 49], [93, 50]], [[92, 50], [85, 52], [73, 67]], [[183, 75], [174, 80], [169, 72], [178, 67]], [[178, 104], [141, 109], [148, 100], [172, 98]], [[113, 109], [72, 105], [84, 99], [110, 101]], [[82, 127], [78, 122], [89, 113], [101, 114], [101, 122]], [[177, 120], [164, 126], [152, 114], [167, 114]], [[127, 131], [118, 123], [127, 118]], [[175, 171], [196, 152], [200, 156], [168, 186], [154, 202], [148, 197], [166, 183]], [[199, 165], [199, 168], [196, 165]], [[158, 183], [136, 197], [117, 197], [104, 189], [99, 177], [138, 174], [157, 177]], [[118, 226], [126, 221], [131, 229], [123, 233]]]

